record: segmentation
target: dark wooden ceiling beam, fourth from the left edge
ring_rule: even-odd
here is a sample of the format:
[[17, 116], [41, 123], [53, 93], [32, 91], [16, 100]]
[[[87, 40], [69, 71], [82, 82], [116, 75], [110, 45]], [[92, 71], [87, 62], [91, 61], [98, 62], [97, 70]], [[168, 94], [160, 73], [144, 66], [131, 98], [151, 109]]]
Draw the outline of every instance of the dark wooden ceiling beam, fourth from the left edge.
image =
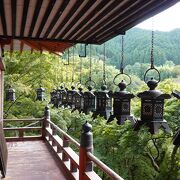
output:
[[37, 21], [37, 18], [38, 18], [42, 3], [43, 3], [43, 0], [37, 0], [37, 2], [36, 2], [36, 7], [35, 7], [35, 10], [34, 10], [33, 19], [32, 19], [32, 22], [31, 22], [31, 27], [29, 29], [29, 34], [28, 34], [29, 37], [32, 36], [32, 33], [34, 31], [34, 27], [36, 25], [36, 21]]

